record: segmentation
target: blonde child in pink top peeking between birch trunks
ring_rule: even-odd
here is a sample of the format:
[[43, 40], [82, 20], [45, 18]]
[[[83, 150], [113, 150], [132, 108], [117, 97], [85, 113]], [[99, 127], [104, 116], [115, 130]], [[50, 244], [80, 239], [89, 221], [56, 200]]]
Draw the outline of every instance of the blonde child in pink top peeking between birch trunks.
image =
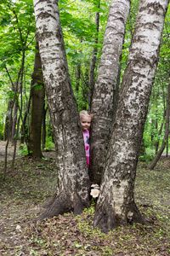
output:
[[87, 166], [89, 166], [89, 153], [90, 153], [89, 129], [90, 129], [90, 125], [93, 117], [94, 117], [93, 114], [88, 113], [88, 111], [82, 110], [80, 112], [80, 120], [82, 125], [82, 135], [83, 135], [84, 146], [86, 151]]

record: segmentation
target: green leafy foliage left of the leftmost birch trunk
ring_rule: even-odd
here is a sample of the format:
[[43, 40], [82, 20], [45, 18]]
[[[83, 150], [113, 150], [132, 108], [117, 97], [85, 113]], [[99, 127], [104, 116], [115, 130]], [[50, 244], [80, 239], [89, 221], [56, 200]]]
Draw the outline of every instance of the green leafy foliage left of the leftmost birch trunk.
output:
[[1, 1], [0, 10], [0, 94], [3, 95], [0, 123], [3, 123], [1, 116], [7, 113], [8, 102], [14, 100], [14, 88], [18, 87], [15, 102], [23, 115], [27, 108], [34, 61], [35, 18], [32, 1]]

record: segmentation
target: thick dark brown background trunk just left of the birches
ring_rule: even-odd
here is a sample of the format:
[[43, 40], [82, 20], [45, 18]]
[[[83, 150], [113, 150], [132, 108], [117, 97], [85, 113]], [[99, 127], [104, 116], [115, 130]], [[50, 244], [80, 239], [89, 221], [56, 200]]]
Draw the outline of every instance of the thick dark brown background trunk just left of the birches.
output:
[[[38, 44], [36, 45], [36, 49], [34, 71], [31, 78], [31, 122], [28, 148], [33, 157], [42, 158], [41, 132], [45, 89], [43, 86], [42, 62], [38, 52]], [[37, 86], [42, 86], [42, 89], [37, 90]]]

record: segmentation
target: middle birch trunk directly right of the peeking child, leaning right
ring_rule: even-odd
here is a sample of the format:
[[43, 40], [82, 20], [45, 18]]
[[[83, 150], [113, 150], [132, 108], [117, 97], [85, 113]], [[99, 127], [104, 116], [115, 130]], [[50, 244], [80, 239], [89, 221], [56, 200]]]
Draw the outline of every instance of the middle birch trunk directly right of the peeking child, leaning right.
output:
[[99, 65], [99, 74], [94, 86], [91, 113], [94, 120], [91, 128], [90, 180], [101, 182], [105, 155], [111, 135], [111, 125], [116, 110], [116, 84], [122, 54], [130, 1], [113, 0], [105, 31]]

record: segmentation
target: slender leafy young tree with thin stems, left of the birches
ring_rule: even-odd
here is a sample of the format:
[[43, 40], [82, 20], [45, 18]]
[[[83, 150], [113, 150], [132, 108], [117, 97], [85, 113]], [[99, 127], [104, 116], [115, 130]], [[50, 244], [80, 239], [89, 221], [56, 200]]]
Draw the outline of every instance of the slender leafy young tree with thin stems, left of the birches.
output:
[[[26, 8], [29, 6], [29, 9]], [[20, 130], [20, 119], [22, 119], [23, 108], [23, 85], [26, 75], [26, 64], [27, 58], [29, 58], [28, 49], [31, 47], [31, 42], [34, 37], [32, 32], [35, 31], [34, 25], [32, 25], [32, 6], [26, 2], [13, 3], [11, 1], [2, 1], [0, 9], [3, 11], [1, 15], [3, 19], [1, 24], [3, 26], [4, 32], [1, 37], [2, 49], [0, 52], [1, 57], [1, 68], [6, 71], [6, 76], [8, 77], [8, 84], [12, 87], [12, 90], [8, 90], [8, 96], [12, 100], [12, 108], [10, 109], [10, 129], [13, 127], [13, 137], [14, 137], [14, 156], [12, 161], [12, 170], [14, 169], [14, 159], [16, 153], [16, 144], [19, 136]], [[22, 22], [21, 22], [22, 21]], [[8, 44], [6, 42], [8, 41]], [[27, 51], [28, 50], [28, 51]], [[27, 52], [26, 52], [27, 51]], [[29, 57], [28, 57], [29, 56]], [[18, 66], [16, 65], [19, 64]], [[13, 108], [16, 104], [19, 110], [19, 114], [15, 111], [15, 121], [12, 126], [13, 119]], [[16, 121], [17, 119], [17, 121]], [[17, 125], [16, 125], [17, 124]], [[8, 131], [8, 140], [9, 134]], [[7, 169], [7, 156], [8, 156], [8, 142], [6, 143], [5, 150], [5, 165], [4, 165], [4, 175], [5, 178]]]

